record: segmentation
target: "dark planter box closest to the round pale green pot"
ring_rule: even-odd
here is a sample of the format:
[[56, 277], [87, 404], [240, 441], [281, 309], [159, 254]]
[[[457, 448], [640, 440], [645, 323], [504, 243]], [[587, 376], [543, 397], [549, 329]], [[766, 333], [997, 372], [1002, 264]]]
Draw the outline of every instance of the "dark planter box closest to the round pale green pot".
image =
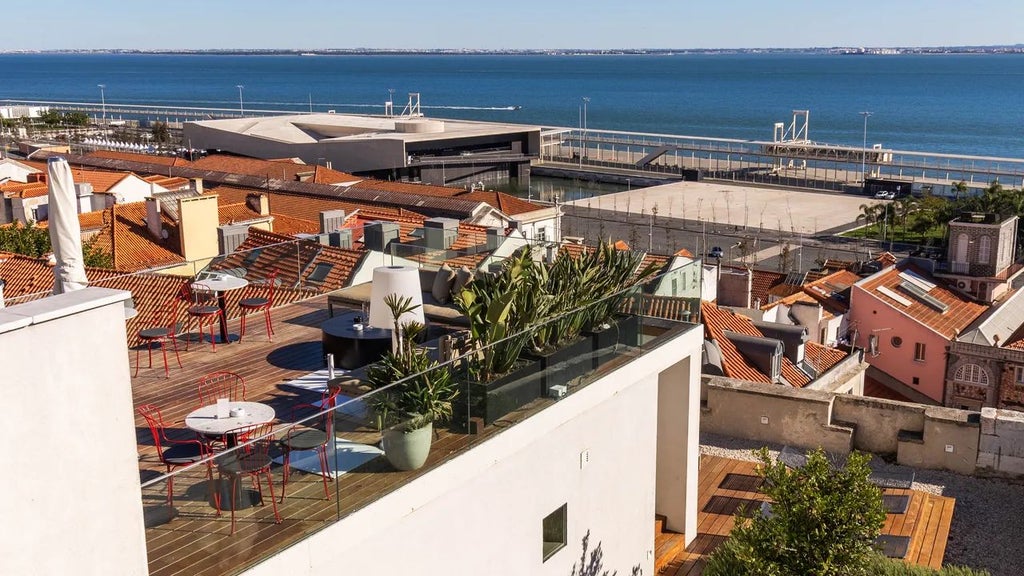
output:
[[[469, 403], [469, 417], [482, 418], [489, 424], [509, 412], [529, 404], [544, 394], [541, 377], [541, 363], [535, 359], [520, 359], [511, 372], [486, 382], [469, 382], [468, 395], [457, 406], [455, 420], [469, 429], [466, 422], [466, 402]], [[464, 390], [465, 392], [465, 390]]]

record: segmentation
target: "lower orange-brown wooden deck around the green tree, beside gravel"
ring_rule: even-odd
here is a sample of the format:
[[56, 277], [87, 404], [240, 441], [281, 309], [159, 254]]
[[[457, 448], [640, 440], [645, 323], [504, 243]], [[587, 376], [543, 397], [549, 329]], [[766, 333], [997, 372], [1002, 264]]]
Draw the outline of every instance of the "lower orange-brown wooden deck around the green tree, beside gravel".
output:
[[[725, 541], [732, 530], [737, 506], [760, 505], [765, 496], [758, 492], [756, 463], [701, 455], [697, 488], [697, 535], [688, 548], [682, 534], [662, 532], [655, 521], [655, 572], [662, 576], [697, 576], [706, 559]], [[882, 534], [909, 536], [904, 561], [932, 568], [942, 566], [954, 500], [913, 490], [885, 490], [886, 495], [910, 497], [905, 513], [886, 517]]]

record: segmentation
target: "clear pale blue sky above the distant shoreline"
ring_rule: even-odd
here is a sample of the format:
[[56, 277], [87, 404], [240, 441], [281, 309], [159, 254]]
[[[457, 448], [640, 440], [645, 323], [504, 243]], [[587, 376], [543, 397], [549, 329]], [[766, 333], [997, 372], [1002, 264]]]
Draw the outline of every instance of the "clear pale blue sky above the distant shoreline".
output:
[[1024, 42], [1022, 0], [54, 0], [8, 8], [0, 50], [784, 48]]

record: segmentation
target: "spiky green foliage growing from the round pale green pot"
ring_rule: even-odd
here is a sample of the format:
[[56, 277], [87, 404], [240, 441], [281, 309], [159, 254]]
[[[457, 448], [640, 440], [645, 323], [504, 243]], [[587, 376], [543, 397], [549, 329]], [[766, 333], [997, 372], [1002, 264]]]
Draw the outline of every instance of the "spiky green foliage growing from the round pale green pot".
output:
[[[374, 395], [371, 406], [381, 418], [382, 426], [402, 423], [406, 431], [425, 426], [430, 422], [445, 422], [452, 417], [452, 402], [458, 395], [458, 384], [452, 372], [438, 368], [429, 354], [416, 340], [424, 330], [419, 322], [398, 319], [415, 311], [412, 299], [390, 294], [384, 303], [394, 319], [396, 344], [380, 362], [367, 368], [370, 385], [383, 388], [404, 380], [396, 386]], [[408, 379], [407, 379], [408, 378]]]

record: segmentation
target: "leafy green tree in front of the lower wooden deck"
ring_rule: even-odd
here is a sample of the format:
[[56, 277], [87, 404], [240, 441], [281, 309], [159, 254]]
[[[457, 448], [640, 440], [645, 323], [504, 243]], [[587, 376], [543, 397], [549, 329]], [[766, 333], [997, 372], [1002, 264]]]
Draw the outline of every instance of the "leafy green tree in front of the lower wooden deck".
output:
[[869, 457], [854, 452], [836, 466], [818, 449], [805, 465], [790, 468], [764, 448], [757, 455], [771, 511], [739, 516], [705, 576], [869, 574], [886, 520], [882, 492], [867, 480]]

